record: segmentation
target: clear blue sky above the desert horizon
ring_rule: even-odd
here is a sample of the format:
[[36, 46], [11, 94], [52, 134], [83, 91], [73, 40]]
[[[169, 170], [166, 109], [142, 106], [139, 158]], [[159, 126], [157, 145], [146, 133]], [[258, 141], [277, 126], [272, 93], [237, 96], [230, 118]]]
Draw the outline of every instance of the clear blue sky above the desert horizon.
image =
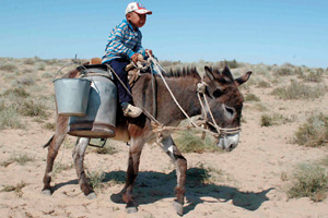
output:
[[[0, 57], [102, 57], [131, 0], [0, 0]], [[328, 66], [327, 0], [141, 0], [159, 60]]]

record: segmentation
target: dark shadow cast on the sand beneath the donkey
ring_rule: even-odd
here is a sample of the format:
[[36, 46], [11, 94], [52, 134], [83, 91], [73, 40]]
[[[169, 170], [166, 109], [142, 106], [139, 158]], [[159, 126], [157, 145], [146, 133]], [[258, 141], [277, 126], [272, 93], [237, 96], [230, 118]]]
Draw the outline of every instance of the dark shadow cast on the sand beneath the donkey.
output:
[[[125, 182], [126, 172], [113, 171], [106, 173], [103, 182], [114, 181], [117, 183]], [[206, 184], [204, 180], [209, 178], [204, 169], [190, 168], [187, 171], [187, 206], [185, 214], [194, 210], [195, 207], [203, 202], [225, 203], [232, 201], [233, 205], [243, 207], [248, 210], [258, 209], [261, 204], [269, 198], [266, 196], [273, 187], [261, 192], [241, 192], [236, 187]], [[139, 172], [133, 189], [133, 196], [137, 204], [151, 204], [166, 197], [174, 197], [174, 187], [176, 185], [176, 172], [169, 174], [162, 172], [145, 171]], [[201, 197], [213, 197], [213, 201], [204, 201]], [[112, 194], [110, 199], [115, 203], [122, 204], [121, 194]]]

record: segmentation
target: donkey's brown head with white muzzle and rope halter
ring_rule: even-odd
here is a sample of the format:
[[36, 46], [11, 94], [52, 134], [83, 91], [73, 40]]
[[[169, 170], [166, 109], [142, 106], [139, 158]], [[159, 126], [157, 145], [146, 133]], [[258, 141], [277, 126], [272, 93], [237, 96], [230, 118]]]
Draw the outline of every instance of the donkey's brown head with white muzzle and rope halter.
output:
[[239, 142], [239, 132], [229, 131], [241, 126], [244, 97], [238, 90], [238, 86], [249, 78], [251, 72], [234, 80], [227, 66], [222, 72], [209, 66], [204, 66], [204, 70], [203, 81], [208, 84], [204, 95], [210, 110], [206, 107], [203, 116], [207, 116], [210, 130], [221, 133], [218, 146], [231, 152]]

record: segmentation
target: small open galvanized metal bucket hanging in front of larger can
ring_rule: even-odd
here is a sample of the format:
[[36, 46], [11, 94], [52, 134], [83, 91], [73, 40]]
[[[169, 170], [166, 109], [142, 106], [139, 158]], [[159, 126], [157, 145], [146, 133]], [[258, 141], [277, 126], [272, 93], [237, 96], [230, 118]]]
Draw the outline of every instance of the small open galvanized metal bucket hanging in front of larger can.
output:
[[54, 81], [58, 113], [85, 116], [91, 81], [85, 78], [57, 78]]

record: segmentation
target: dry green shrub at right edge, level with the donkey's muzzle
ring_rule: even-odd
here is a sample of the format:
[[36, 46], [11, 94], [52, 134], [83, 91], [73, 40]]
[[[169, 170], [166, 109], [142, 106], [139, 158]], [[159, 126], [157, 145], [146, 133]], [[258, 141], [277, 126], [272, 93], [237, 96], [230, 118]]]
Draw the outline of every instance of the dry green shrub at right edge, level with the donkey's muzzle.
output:
[[296, 131], [294, 143], [307, 147], [328, 145], [328, 117], [323, 113], [309, 117]]

